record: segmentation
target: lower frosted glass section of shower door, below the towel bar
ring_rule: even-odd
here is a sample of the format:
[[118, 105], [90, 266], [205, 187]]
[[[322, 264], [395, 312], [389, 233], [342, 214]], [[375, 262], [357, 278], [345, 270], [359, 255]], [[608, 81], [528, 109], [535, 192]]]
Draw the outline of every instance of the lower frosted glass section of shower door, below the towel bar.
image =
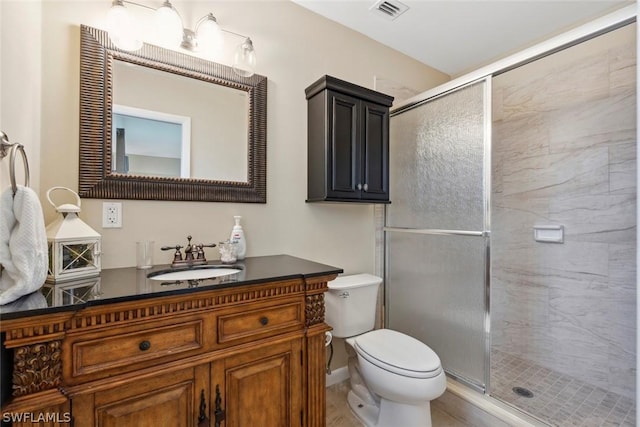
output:
[[389, 328], [484, 385], [484, 237], [387, 232]]

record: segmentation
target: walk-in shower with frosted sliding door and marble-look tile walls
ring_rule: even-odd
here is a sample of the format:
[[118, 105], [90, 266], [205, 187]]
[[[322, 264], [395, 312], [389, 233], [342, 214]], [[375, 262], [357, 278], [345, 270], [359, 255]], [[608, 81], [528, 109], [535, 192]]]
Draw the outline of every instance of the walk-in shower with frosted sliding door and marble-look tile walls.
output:
[[391, 118], [387, 325], [550, 425], [635, 425], [635, 31]]

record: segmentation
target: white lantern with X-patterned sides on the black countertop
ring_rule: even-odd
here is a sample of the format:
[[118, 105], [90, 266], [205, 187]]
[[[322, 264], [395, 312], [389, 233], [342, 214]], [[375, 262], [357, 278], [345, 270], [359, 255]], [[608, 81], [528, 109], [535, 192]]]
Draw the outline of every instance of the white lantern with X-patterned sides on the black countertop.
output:
[[[76, 196], [77, 205], [56, 206], [49, 197], [54, 190], [67, 190]], [[47, 200], [61, 215], [47, 226], [49, 272], [47, 281], [60, 282], [100, 274], [100, 234], [78, 218], [80, 196], [66, 187], [47, 191]]]

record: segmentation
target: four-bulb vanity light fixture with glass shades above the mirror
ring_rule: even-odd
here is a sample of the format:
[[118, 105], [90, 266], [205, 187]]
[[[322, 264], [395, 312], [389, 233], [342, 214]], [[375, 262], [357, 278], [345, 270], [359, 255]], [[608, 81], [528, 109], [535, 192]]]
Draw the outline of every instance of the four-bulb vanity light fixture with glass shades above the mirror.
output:
[[136, 51], [143, 45], [140, 25], [126, 9], [125, 3], [154, 11], [153, 37], [163, 47], [180, 46], [190, 52], [203, 52], [215, 58], [222, 51], [223, 32], [242, 38], [242, 43], [236, 48], [232, 68], [242, 77], [251, 77], [255, 73], [256, 53], [249, 37], [223, 30], [212, 13], [200, 18], [195, 30], [185, 28], [180, 14], [169, 0], [164, 0], [158, 9], [128, 0], [112, 0], [107, 13], [107, 31], [118, 49]]

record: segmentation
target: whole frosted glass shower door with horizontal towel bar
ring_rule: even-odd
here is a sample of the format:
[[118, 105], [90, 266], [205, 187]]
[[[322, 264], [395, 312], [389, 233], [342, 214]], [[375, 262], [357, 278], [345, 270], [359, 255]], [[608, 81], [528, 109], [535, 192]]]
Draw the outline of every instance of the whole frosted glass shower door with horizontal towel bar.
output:
[[484, 390], [487, 364], [488, 83], [391, 118], [385, 215], [387, 325]]

